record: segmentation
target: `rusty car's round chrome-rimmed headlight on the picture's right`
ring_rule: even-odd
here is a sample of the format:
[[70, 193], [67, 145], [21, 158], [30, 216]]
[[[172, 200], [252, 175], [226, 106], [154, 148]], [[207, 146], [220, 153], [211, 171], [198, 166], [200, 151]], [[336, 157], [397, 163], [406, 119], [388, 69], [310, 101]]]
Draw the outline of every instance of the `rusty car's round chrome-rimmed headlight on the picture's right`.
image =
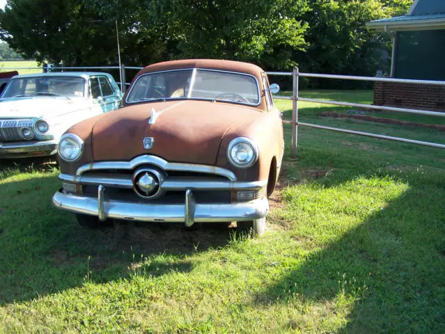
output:
[[258, 159], [258, 148], [249, 138], [235, 138], [228, 144], [227, 158], [233, 166], [247, 168]]

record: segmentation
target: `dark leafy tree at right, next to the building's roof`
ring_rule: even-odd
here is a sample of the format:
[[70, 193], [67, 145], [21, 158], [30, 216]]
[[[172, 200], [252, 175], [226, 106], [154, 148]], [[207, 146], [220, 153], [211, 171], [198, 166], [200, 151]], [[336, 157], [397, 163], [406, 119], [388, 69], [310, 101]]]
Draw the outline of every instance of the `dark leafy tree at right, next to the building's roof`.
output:
[[[382, 54], [390, 53], [391, 40], [387, 34], [367, 29], [366, 22], [403, 15], [409, 3], [412, 0], [309, 0], [311, 10], [301, 18], [309, 23], [304, 35], [309, 47], [295, 53], [300, 70], [375, 75], [377, 69], [388, 67]], [[335, 81], [318, 82], [331, 85]]]

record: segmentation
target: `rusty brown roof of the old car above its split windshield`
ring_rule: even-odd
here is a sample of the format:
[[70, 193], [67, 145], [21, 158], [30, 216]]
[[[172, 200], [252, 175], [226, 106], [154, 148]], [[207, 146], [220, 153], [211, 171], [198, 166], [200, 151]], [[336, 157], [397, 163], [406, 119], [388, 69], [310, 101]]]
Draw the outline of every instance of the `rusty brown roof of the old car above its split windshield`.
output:
[[182, 68], [203, 68], [209, 70], [224, 70], [241, 72], [260, 76], [264, 71], [261, 67], [241, 61], [223, 61], [219, 59], [185, 59], [180, 61], [164, 61], [144, 67], [139, 74], [166, 70], [178, 70]]

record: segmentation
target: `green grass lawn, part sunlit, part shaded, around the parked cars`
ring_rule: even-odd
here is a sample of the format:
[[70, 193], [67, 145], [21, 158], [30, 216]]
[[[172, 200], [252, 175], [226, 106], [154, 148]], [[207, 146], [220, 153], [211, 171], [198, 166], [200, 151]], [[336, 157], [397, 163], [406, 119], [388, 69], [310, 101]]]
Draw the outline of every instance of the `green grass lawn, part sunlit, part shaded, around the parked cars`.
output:
[[[301, 107], [304, 122], [443, 142]], [[444, 150], [301, 127], [292, 159], [285, 133], [260, 239], [220, 225], [79, 228], [50, 204], [54, 165], [3, 163], [0, 333], [444, 333]]]

